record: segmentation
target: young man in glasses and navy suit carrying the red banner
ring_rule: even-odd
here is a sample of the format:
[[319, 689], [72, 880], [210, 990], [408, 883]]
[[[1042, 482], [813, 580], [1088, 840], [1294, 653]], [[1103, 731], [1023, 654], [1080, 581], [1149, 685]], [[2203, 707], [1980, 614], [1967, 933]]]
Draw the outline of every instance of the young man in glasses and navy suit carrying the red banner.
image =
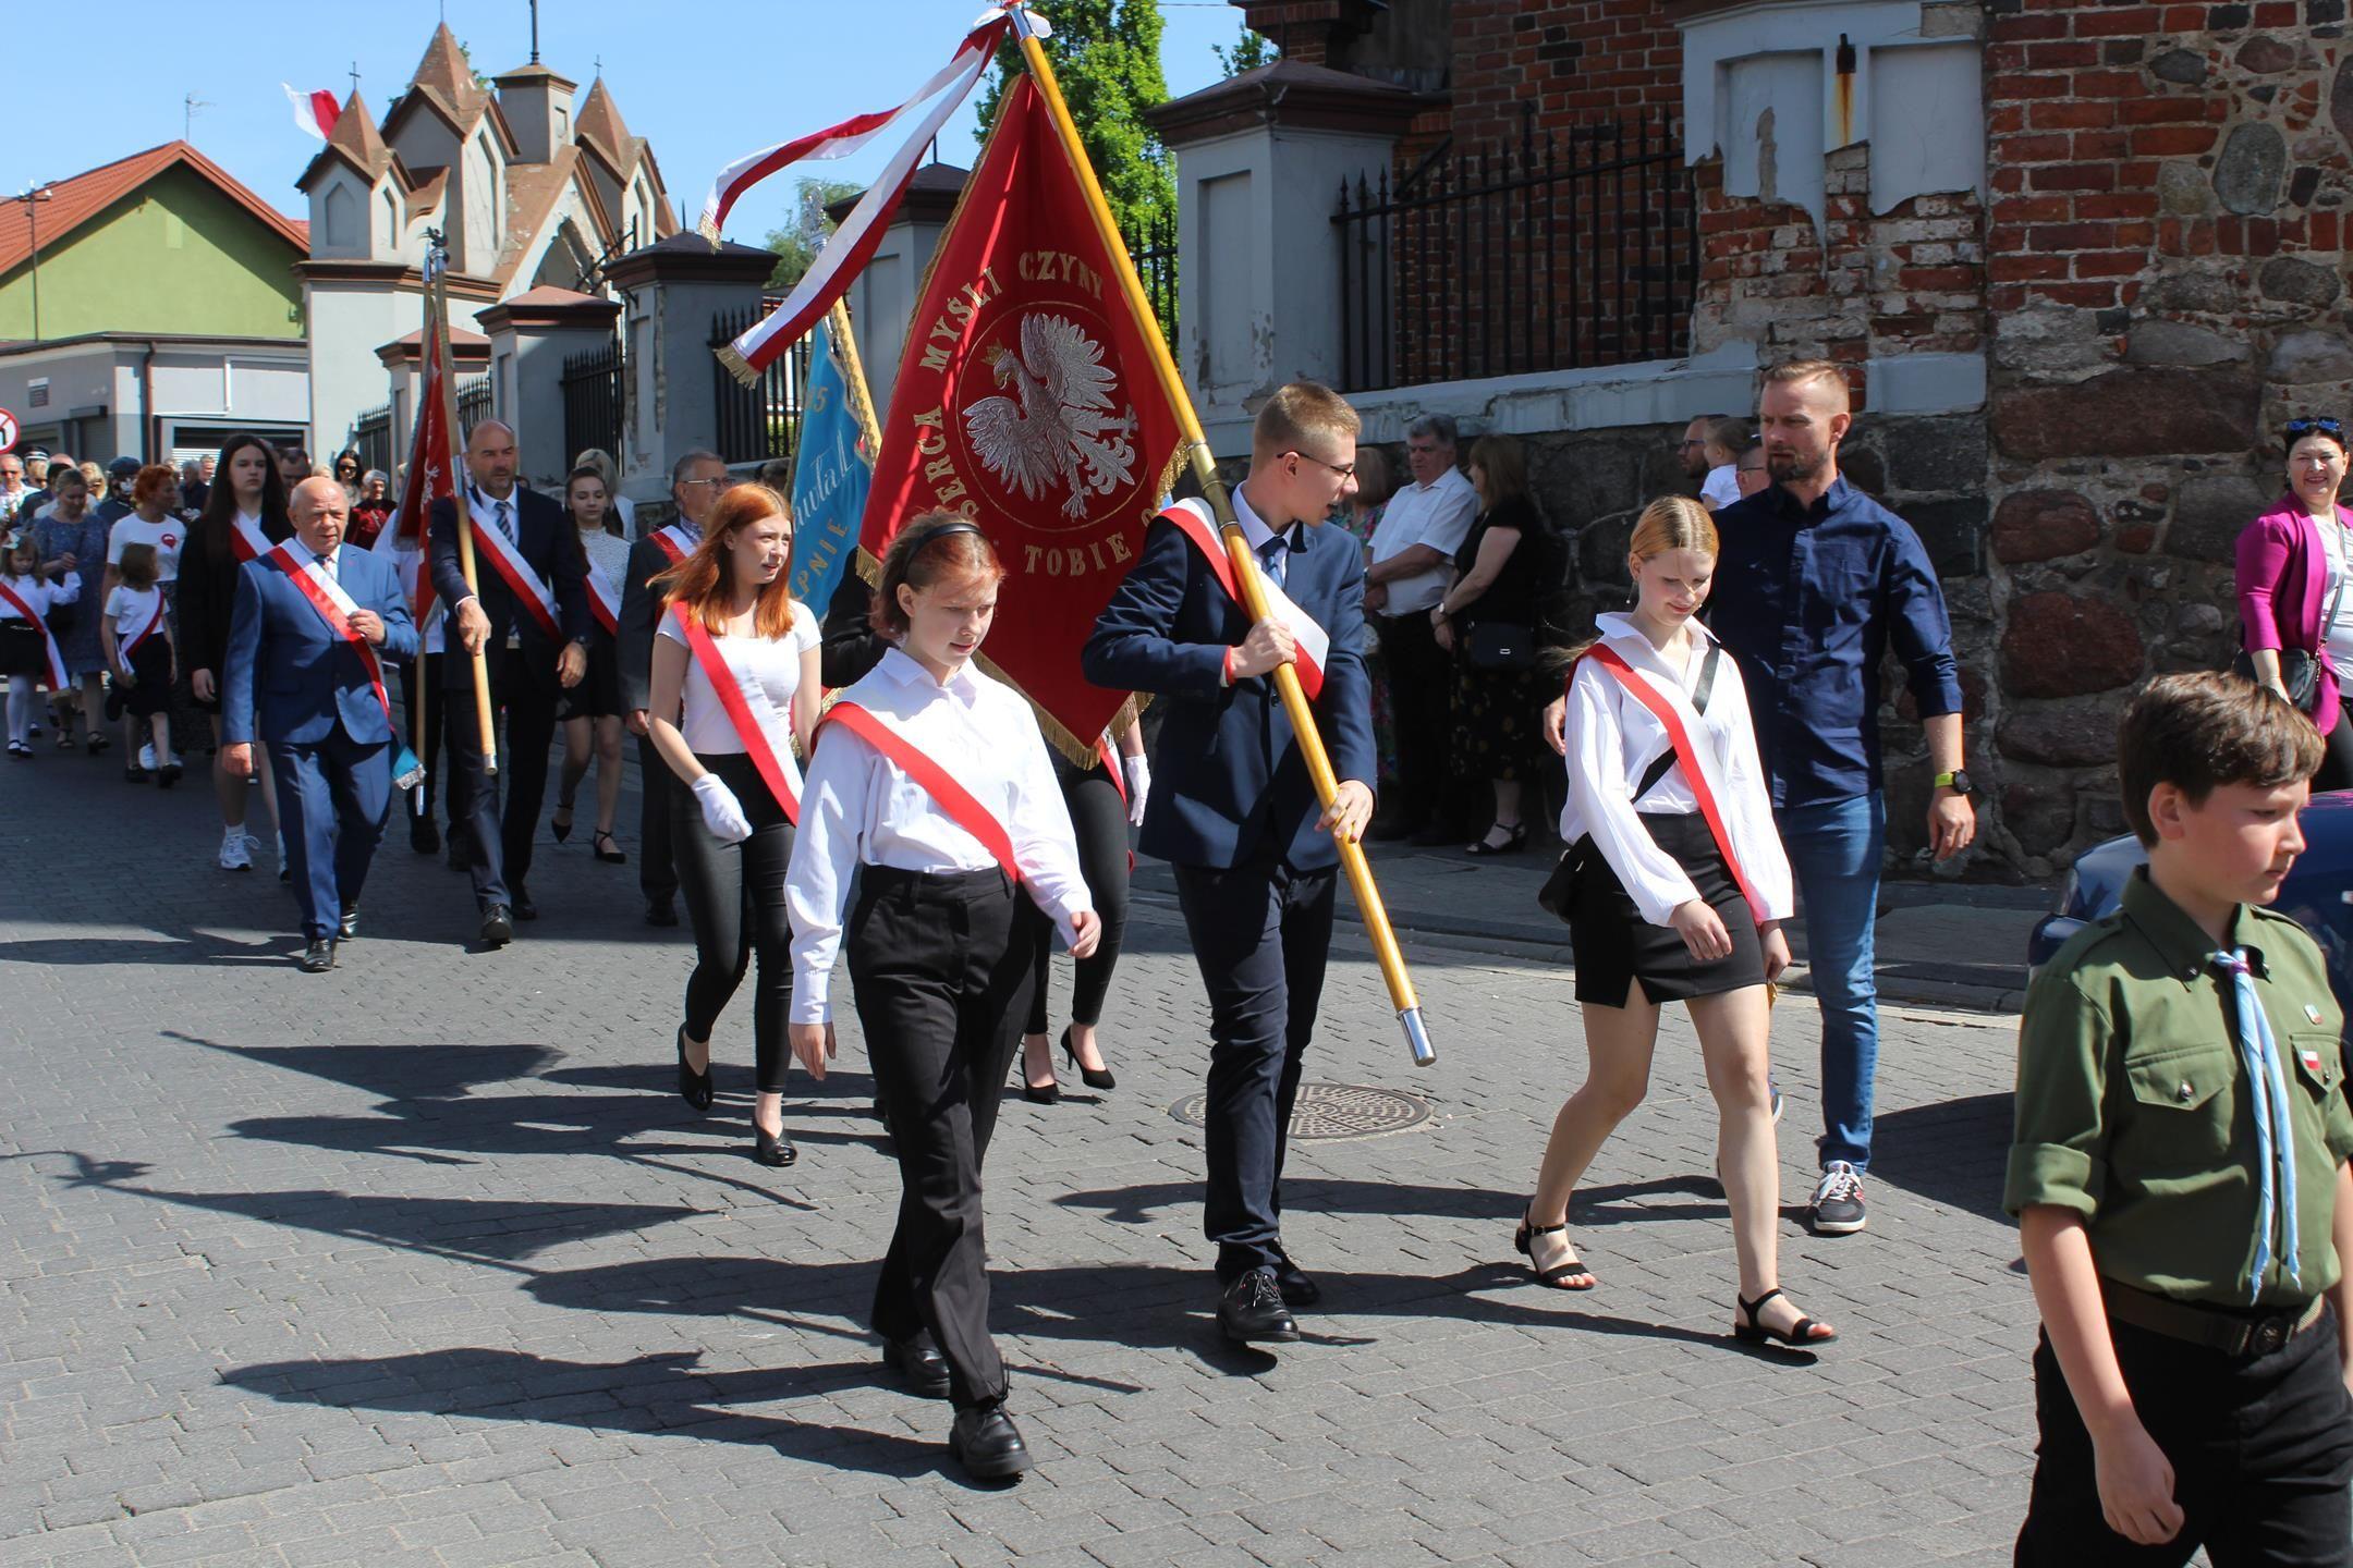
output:
[[[1259, 571], [1329, 635], [1299, 639], [1278, 609], [1249, 623], [1226, 590], [1207, 527], [1153, 522], [1127, 581], [1094, 623], [1082, 668], [1120, 691], [1151, 691], [1165, 715], [1144, 853], [1176, 867], [1176, 900], [1209, 987], [1209, 1190], [1226, 1338], [1299, 1338], [1292, 1307], [1320, 1291], [1282, 1251], [1282, 1154], [1299, 1067], [1315, 1032], [1339, 846], [1372, 820], [1372, 693], [1360, 654], [1365, 557], [1325, 517], [1355, 491], [1358, 418], [1315, 383], [1278, 390], [1249, 442], [1233, 512]], [[1315, 799], [1275, 665], [1320, 668], [1315, 729], [1341, 780]]]

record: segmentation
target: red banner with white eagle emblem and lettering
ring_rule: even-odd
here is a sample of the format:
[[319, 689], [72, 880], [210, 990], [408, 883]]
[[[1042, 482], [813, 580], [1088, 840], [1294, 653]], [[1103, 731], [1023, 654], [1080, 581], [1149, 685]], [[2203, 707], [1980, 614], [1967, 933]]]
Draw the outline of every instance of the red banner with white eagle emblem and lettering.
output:
[[981, 651], [1089, 757], [1127, 693], [1089, 686], [1078, 649], [1160, 510], [1179, 425], [1028, 75], [941, 235], [882, 430], [859, 545], [880, 559], [932, 508], [981, 524], [1007, 571]]

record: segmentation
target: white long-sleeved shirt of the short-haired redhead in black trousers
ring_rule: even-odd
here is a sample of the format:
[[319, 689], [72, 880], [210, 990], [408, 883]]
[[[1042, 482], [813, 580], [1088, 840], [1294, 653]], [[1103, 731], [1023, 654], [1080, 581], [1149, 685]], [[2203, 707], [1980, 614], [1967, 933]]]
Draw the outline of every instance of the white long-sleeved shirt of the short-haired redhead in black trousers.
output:
[[[901, 649], [882, 654], [840, 701], [913, 741], [1005, 823], [1028, 896], [1054, 919], [1066, 945], [1078, 940], [1073, 922], [1094, 910], [1094, 898], [1078, 872], [1071, 809], [1028, 701], [972, 665], [941, 684]], [[842, 945], [849, 875], [861, 863], [979, 872], [998, 858], [864, 736], [826, 724], [800, 792], [800, 832], [784, 889], [793, 914], [793, 1023], [833, 1018], [826, 987]]]

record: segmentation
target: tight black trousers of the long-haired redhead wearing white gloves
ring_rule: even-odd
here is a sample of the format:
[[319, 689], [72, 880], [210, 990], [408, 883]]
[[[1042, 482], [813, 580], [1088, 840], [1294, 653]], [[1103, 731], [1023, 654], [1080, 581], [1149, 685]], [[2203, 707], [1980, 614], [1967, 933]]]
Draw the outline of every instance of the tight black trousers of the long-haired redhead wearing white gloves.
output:
[[[687, 1039], [711, 1039], [720, 1013], [744, 985], [751, 961], [760, 978], [751, 992], [751, 1037], [760, 1093], [784, 1093], [793, 1065], [784, 1039], [793, 1004], [793, 926], [784, 907], [784, 872], [793, 863], [793, 823], [767, 792], [760, 769], [744, 752], [694, 757], [734, 790], [751, 837], [720, 844], [704, 827], [694, 790], [671, 790], [671, 844], [678, 846], [678, 886], [694, 929], [694, 973], [687, 976]], [[668, 766], [661, 769], [668, 773]], [[675, 780], [673, 780], [675, 783]]]

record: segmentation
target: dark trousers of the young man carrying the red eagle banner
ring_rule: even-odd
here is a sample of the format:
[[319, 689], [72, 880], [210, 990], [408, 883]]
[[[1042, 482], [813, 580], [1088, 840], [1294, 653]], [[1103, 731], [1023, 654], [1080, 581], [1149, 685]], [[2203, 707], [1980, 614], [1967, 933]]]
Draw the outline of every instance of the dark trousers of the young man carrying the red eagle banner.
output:
[[1209, 987], [1209, 1192], [1202, 1232], [1233, 1284], [1282, 1262], [1282, 1157], [1299, 1065], [1315, 1034], [1339, 870], [1273, 853], [1233, 870], [1176, 867], [1176, 903]]

